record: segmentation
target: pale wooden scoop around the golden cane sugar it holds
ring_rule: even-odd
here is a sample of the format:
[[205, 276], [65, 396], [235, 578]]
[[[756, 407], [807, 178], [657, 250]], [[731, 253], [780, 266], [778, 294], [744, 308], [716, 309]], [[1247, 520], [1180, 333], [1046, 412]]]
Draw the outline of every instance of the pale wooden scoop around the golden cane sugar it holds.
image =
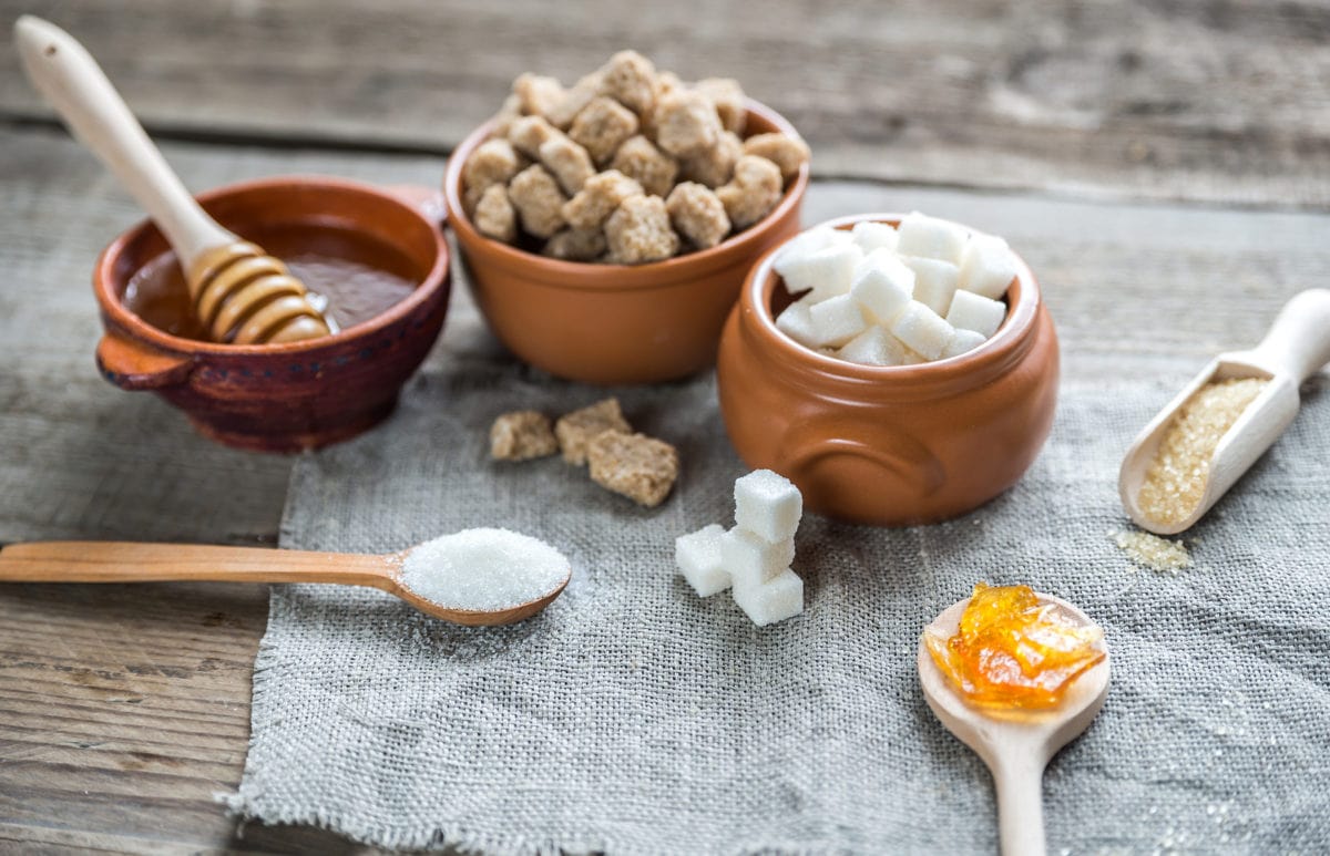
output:
[[[1150, 420], [1132, 441], [1123, 460], [1117, 489], [1127, 514], [1141, 529], [1156, 534], [1177, 534], [1198, 521], [1242, 473], [1279, 439], [1298, 415], [1298, 387], [1330, 362], [1330, 290], [1310, 288], [1294, 295], [1256, 348], [1221, 354], [1189, 383], [1168, 407]], [[1205, 481], [1201, 501], [1177, 522], [1146, 517], [1137, 501], [1141, 484], [1154, 460], [1173, 416], [1198, 389], [1212, 380], [1258, 377], [1269, 380], [1237, 423], [1224, 435]]]

